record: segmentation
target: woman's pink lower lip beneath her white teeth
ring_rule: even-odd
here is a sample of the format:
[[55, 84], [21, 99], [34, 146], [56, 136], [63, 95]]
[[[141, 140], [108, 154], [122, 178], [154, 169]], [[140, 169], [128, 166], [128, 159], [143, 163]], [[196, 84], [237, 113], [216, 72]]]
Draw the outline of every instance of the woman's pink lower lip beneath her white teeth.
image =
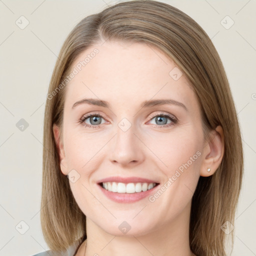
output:
[[154, 193], [155, 189], [158, 187], [158, 185], [154, 186], [153, 188], [141, 191], [141, 192], [135, 192], [135, 193], [117, 193], [117, 192], [111, 192], [103, 188], [100, 184], [97, 184], [100, 188], [100, 190], [111, 200], [115, 202], [135, 202], [139, 201], [145, 197], [148, 197], [152, 193]]

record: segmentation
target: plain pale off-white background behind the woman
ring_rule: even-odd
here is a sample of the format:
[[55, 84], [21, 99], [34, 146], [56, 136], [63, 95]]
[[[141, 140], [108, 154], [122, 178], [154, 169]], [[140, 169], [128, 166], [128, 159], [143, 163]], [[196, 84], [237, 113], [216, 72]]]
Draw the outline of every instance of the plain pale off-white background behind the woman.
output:
[[[39, 216], [43, 113], [50, 76], [73, 26], [115, 2], [0, 0], [0, 255], [29, 256], [48, 249]], [[245, 160], [231, 255], [256, 255], [256, 1], [164, 2], [202, 26], [224, 64], [241, 125]], [[29, 21], [24, 29], [15, 23], [25, 24], [21, 15]], [[226, 15], [234, 21], [229, 29], [232, 21]], [[29, 124], [23, 131], [16, 127], [21, 118]]]

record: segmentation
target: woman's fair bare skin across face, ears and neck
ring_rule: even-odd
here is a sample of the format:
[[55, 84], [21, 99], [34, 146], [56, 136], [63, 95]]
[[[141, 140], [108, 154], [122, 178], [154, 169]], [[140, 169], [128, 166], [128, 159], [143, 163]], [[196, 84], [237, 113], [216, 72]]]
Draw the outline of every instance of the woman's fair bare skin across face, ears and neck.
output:
[[[59, 127], [53, 125], [61, 172], [67, 175], [75, 169], [80, 175], [69, 183], [86, 215], [85, 255], [194, 255], [188, 240], [191, 198], [199, 176], [212, 175], [221, 162], [223, 131], [218, 126], [210, 142], [204, 140], [199, 104], [189, 81], [184, 74], [178, 80], [169, 75], [176, 65], [157, 48], [106, 41], [80, 53], [72, 68], [95, 47], [99, 53], [65, 88], [60, 138]], [[105, 100], [109, 108], [72, 108], [85, 97]], [[174, 104], [140, 108], [144, 100], [162, 98], [181, 102], [187, 110]], [[87, 113], [102, 116], [97, 128], [84, 126], [95, 125], [90, 118], [79, 122]], [[171, 125], [160, 127], [160, 113], [176, 117], [177, 123], [167, 118], [162, 123]], [[126, 131], [118, 127], [122, 118], [131, 125]], [[99, 179], [115, 175], [150, 178], [162, 186], [198, 151], [197, 159], [154, 202], [146, 197], [118, 203], [98, 188]], [[131, 226], [125, 234], [118, 228], [124, 220]], [[84, 249], [85, 242], [76, 255], [84, 255]]]

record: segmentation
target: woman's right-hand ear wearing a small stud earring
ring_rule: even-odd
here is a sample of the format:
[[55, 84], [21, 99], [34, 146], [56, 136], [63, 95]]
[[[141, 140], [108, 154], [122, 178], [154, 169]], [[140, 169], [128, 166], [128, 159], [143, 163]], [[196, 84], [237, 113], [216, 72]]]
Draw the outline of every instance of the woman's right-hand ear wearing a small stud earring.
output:
[[222, 127], [218, 125], [215, 130], [211, 131], [210, 140], [206, 141], [203, 147], [200, 176], [212, 175], [220, 165], [223, 155], [224, 133]]

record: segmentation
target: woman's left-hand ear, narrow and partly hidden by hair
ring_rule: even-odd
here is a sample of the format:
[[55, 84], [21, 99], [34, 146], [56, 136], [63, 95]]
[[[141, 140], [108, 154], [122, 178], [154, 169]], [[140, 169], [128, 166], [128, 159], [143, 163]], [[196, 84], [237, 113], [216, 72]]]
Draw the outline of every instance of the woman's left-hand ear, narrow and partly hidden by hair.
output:
[[59, 162], [60, 169], [64, 175], [67, 175], [68, 174], [67, 163], [66, 163], [65, 151], [63, 147], [63, 141], [60, 137], [60, 128], [55, 123], [53, 123], [52, 129], [53, 129], [54, 139], [55, 139], [57, 152], [60, 160]]

